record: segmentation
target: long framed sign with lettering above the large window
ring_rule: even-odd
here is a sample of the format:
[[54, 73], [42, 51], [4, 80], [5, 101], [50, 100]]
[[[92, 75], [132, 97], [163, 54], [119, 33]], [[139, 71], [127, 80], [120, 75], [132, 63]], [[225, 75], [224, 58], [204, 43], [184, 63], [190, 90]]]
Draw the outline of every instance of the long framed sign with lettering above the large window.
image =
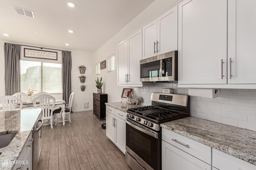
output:
[[53, 52], [53, 51], [24, 48], [24, 57], [28, 57], [28, 58], [57, 60], [58, 59], [57, 54], [58, 54], [57, 52]]

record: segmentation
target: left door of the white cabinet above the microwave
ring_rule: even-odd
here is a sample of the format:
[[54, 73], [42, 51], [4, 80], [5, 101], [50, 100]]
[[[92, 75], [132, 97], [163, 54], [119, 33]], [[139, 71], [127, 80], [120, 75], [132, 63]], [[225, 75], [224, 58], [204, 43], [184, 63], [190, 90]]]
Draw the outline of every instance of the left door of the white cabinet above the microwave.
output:
[[156, 56], [157, 20], [142, 28], [142, 59]]

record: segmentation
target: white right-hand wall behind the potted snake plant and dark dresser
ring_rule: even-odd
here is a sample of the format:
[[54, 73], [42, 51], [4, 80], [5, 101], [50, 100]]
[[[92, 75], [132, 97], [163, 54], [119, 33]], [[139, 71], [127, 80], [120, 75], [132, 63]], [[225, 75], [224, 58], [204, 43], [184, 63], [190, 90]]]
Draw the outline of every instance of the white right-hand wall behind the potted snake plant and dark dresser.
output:
[[[134, 20], [128, 23], [121, 29], [114, 37], [109, 39], [102, 47], [100, 47], [94, 54], [94, 79], [102, 77], [104, 82], [102, 91], [108, 94], [108, 102], [119, 102], [121, 100], [122, 89], [124, 87], [117, 86], [117, 49], [116, 43], [124, 38], [126, 35], [146, 23], [146, 21], [153, 18], [156, 14], [170, 6], [175, 0], [155, 0], [148, 8], [140, 13]], [[95, 75], [95, 64], [107, 59], [110, 55], [115, 54], [115, 70], [107, 72], [107, 68], [100, 70], [99, 75]], [[139, 73], [138, 73], [139, 74]], [[94, 92], [96, 92], [94, 81]]]

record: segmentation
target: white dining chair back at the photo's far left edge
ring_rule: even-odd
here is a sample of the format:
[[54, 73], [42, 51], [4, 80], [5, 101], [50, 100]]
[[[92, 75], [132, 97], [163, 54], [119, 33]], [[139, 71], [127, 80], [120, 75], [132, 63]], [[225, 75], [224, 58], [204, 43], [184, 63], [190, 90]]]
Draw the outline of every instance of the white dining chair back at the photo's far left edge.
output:
[[23, 106], [22, 100], [14, 96], [2, 96], [0, 102], [2, 102], [2, 111], [21, 110]]

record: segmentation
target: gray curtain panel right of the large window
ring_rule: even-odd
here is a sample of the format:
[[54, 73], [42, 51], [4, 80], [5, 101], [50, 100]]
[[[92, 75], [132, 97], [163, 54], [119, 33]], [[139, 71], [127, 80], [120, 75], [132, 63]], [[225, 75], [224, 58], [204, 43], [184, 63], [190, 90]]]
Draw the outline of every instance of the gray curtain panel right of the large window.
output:
[[62, 99], [68, 103], [71, 94], [71, 51], [62, 51]]

